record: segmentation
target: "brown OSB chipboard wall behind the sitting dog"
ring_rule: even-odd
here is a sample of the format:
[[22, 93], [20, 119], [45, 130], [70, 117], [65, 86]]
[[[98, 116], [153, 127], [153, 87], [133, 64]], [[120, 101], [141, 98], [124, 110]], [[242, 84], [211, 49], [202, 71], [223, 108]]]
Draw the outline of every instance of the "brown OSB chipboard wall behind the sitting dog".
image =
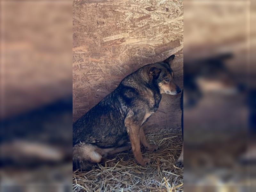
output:
[[[172, 54], [175, 79], [182, 88], [182, 1], [74, 1], [73, 121], [125, 76]], [[180, 117], [180, 95], [163, 95], [145, 127], [177, 127]]]

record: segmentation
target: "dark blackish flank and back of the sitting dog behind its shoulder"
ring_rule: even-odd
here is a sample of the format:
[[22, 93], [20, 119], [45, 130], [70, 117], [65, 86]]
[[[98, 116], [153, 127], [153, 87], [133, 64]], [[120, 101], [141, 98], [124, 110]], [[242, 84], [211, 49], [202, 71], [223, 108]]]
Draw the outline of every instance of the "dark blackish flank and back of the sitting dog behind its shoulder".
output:
[[124, 127], [126, 111], [120, 108], [122, 100], [117, 88], [78, 119], [73, 124], [73, 146], [79, 141], [104, 148], [124, 144], [128, 135]]

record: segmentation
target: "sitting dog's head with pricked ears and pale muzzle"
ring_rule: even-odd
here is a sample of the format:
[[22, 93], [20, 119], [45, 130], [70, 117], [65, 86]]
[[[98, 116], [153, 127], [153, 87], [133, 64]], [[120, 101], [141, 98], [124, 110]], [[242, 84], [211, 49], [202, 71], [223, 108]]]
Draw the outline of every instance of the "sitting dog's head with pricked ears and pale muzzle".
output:
[[174, 81], [174, 74], [171, 68], [173, 59], [174, 55], [162, 62], [149, 65], [149, 79], [158, 85], [161, 94], [177, 95], [181, 92], [180, 87]]

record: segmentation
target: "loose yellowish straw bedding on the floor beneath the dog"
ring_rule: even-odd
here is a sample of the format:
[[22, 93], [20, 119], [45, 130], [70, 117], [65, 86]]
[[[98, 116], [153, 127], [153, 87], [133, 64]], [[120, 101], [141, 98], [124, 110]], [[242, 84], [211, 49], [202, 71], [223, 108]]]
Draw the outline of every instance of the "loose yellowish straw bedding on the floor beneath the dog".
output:
[[183, 168], [175, 166], [182, 148], [180, 127], [146, 137], [160, 147], [154, 153], [142, 147], [142, 155], [150, 158], [150, 165], [137, 164], [131, 150], [116, 154], [90, 171], [74, 171], [73, 191], [183, 191]]

